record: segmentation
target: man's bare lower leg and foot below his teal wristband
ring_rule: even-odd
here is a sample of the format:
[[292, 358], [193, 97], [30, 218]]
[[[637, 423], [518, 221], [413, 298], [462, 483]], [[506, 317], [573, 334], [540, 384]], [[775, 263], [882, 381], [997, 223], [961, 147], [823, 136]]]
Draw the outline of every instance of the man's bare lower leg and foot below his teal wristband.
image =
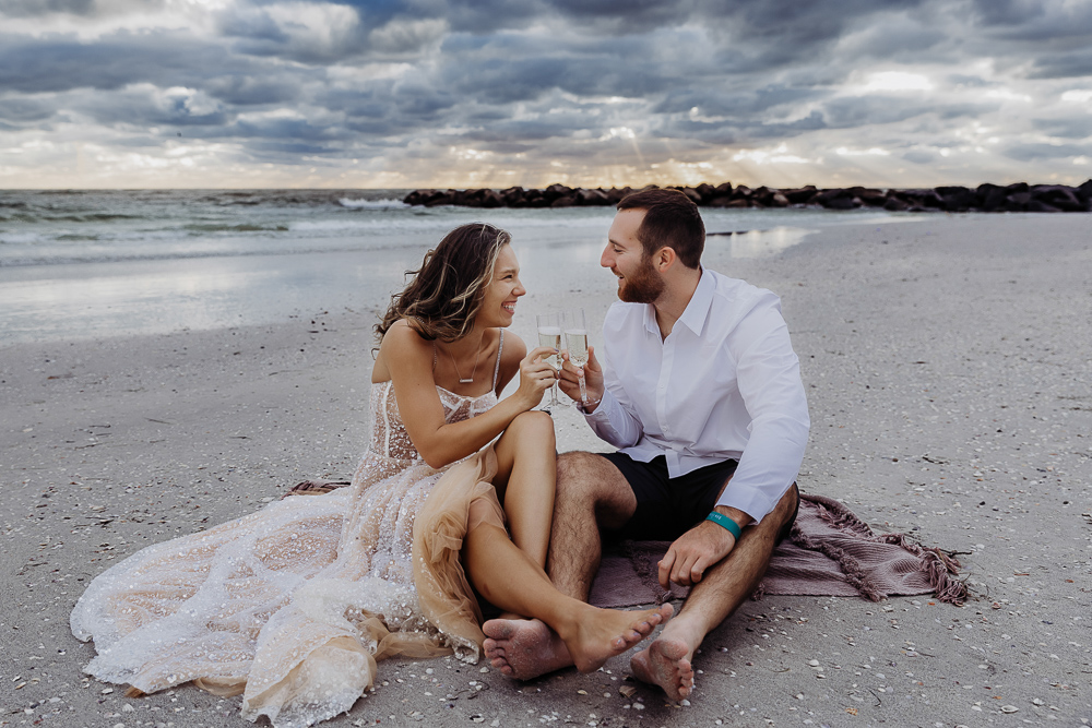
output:
[[726, 620], [758, 588], [770, 564], [778, 534], [793, 516], [798, 491], [790, 488], [778, 506], [757, 526], [744, 529], [732, 552], [705, 571], [693, 585], [679, 616], [660, 637], [630, 660], [633, 676], [663, 688], [667, 697], [682, 700], [693, 690], [693, 653], [705, 635]]

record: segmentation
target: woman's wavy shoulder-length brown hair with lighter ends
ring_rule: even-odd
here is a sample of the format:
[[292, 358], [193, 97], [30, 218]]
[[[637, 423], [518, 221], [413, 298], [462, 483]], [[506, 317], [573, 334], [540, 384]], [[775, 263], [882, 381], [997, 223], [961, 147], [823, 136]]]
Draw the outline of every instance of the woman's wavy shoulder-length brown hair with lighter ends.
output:
[[401, 294], [391, 296], [376, 336], [383, 336], [400, 319], [428, 341], [454, 342], [474, 325], [485, 288], [492, 281], [500, 249], [512, 236], [485, 223], [461, 225], [425, 254], [420, 268]]

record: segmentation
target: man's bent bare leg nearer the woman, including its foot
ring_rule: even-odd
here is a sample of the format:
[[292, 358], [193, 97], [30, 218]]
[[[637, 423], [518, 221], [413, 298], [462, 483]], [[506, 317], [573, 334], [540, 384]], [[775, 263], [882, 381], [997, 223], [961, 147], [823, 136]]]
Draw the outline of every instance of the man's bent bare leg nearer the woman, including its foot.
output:
[[[633, 491], [610, 461], [584, 452], [558, 456], [547, 571], [561, 594], [587, 601], [603, 550], [600, 528], [621, 527], [636, 509]], [[509, 677], [530, 680], [573, 663], [539, 620], [495, 619], [482, 630], [486, 658]]]

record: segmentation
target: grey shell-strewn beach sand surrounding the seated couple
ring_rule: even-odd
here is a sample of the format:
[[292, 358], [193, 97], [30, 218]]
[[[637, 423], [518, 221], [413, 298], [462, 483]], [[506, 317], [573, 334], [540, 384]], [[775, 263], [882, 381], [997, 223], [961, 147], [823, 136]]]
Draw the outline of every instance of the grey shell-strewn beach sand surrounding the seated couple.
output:
[[[529, 683], [392, 660], [330, 725], [1092, 720], [1089, 216], [847, 225], [764, 259], [731, 259], [726, 240], [710, 239], [705, 264], [779, 293], [803, 361], [802, 488], [957, 551], [974, 597], [747, 602], [697, 657], [689, 705], [627, 678], [628, 655]], [[551, 307], [601, 321], [612, 287], [604, 274], [595, 290], [529, 295], [513, 330], [526, 338]], [[370, 315], [0, 349], [0, 726], [246, 725], [237, 697], [129, 700], [85, 679], [94, 648], [68, 616], [140, 548], [349, 474], [367, 437]], [[574, 413], [557, 421], [560, 449], [604, 449]]]

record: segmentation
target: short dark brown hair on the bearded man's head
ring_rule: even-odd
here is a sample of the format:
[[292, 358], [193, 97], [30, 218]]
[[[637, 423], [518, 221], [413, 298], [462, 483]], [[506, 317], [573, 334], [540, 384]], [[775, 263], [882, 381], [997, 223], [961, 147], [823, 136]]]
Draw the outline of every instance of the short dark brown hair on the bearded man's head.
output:
[[701, 222], [698, 205], [678, 190], [650, 188], [627, 194], [618, 210], [643, 210], [644, 219], [637, 229], [637, 239], [644, 254], [652, 255], [661, 248], [670, 248], [682, 265], [697, 268], [705, 248], [705, 225]]

